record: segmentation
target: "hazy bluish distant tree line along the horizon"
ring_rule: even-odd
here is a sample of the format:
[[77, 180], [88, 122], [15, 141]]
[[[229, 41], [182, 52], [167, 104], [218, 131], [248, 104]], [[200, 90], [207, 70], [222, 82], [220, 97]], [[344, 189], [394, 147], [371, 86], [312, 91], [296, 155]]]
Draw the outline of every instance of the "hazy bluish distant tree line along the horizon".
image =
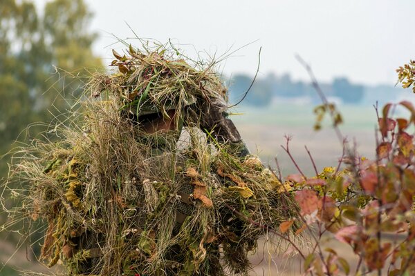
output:
[[[250, 87], [253, 77], [250, 75], [234, 75], [228, 79], [230, 101], [239, 101]], [[388, 85], [365, 86], [353, 83], [347, 77], [336, 77], [329, 83], [320, 83], [327, 97], [346, 104], [373, 104], [378, 99], [392, 101], [402, 88]], [[291, 75], [275, 75], [270, 73], [255, 80], [252, 88], [243, 100], [248, 106], [268, 106], [280, 98], [293, 99], [303, 97], [311, 103], [320, 103], [311, 83], [294, 80]]]

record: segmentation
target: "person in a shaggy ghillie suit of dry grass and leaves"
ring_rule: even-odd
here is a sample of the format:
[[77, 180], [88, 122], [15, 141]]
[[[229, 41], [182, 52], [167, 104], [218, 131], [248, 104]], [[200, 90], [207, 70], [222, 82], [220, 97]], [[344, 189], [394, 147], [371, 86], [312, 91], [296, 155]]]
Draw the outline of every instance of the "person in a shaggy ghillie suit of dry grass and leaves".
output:
[[42, 258], [68, 275], [246, 275], [293, 197], [248, 154], [210, 66], [127, 52], [87, 84], [58, 142], [19, 159], [24, 215], [48, 223]]

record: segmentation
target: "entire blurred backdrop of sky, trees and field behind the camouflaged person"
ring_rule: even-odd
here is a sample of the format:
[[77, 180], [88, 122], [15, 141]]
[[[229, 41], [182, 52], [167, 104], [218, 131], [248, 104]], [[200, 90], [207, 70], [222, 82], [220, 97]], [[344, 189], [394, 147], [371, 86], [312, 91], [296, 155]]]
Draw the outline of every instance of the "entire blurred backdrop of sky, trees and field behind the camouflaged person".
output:
[[[193, 59], [222, 60], [216, 70], [230, 90], [230, 104], [250, 87], [262, 47], [257, 79], [231, 119], [265, 164], [275, 166], [277, 157], [282, 175], [295, 172], [280, 147], [285, 135], [293, 137], [293, 156], [308, 174], [313, 170], [305, 145], [319, 170], [335, 166], [342, 155], [329, 120], [322, 130], [313, 129], [313, 108], [321, 101], [295, 55], [311, 64], [336, 103], [343, 134], [361, 155], [373, 157], [376, 102], [415, 101], [396, 86], [395, 72], [415, 58], [414, 10], [412, 0], [0, 0], [1, 182], [8, 177], [7, 153], [48, 126], [53, 130], [50, 121], [53, 126], [71, 111], [91, 72], [108, 70], [111, 49], [122, 52], [119, 39], [138, 46], [137, 36], [171, 39]], [[0, 213], [1, 226], [6, 216]], [[46, 271], [29, 262], [35, 258], [28, 245], [41, 243], [40, 233], [30, 240], [4, 231], [0, 237], [0, 275]], [[265, 273], [278, 268], [294, 275], [291, 265], [278, 264], [259, 265], [257, 273], [266, 266]]]

